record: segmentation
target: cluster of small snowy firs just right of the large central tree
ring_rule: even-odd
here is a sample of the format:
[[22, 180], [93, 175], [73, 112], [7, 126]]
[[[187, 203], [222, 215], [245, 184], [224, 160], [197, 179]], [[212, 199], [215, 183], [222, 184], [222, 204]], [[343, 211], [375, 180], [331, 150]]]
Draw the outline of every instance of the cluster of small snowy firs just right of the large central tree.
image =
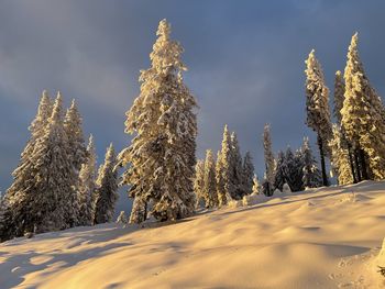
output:
[[242, 158], [237, 134], [224, 126], [221, 151], [215, 159], [212, 151], [199, 159], [195, 169], [194, 190], [197, 207], [218, 208], [253, 192], [254, 166], [250, 152]]

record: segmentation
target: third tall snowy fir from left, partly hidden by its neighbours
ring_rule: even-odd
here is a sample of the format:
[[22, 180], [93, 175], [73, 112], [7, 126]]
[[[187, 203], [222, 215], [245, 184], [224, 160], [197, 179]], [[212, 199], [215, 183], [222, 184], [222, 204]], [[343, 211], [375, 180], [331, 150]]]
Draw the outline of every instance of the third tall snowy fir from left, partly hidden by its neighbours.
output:
[[80, 179], [79, 170], [81, 165], [87, 162], [87, 148], [85, 144], [85, 138], [82, 134], [82, 120], [78, 111], [75, 100], [72, 101], [69, 109], [64, 118], [64, 131], [67, 134], [68, 142], [68, 157], [72, 163], [72, 174], [75, 187], [74, 193], [72, 196], [72, 207], [74, 210], [74, 215], [72, 216], [70, 223], [79, 223], [79, 200], [77, 191], [79, 189]]

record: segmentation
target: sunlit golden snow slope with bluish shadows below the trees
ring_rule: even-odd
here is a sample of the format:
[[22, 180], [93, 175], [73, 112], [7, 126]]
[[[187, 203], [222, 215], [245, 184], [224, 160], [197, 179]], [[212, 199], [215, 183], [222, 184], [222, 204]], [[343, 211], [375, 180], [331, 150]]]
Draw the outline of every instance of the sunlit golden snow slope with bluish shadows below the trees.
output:
[[384, 237], [385, 182], [365, 181], [6, 242], [0, 288], [382, 288]]

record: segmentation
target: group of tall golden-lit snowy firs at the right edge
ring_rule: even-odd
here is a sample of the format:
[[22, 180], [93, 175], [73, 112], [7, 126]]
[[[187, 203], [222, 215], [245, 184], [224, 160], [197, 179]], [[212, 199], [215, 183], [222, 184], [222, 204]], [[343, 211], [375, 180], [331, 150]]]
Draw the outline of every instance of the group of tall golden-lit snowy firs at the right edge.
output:
[[331, 159], [340, 185], [385, 177], [385, 109], [364, 71], [358, 37], [352, 36], [343, 76], [336, 73], [334, 124], [315, 51], [306, 60], [307, 124], [317, 133], [323, 185], [328, 185], [324, 157]]

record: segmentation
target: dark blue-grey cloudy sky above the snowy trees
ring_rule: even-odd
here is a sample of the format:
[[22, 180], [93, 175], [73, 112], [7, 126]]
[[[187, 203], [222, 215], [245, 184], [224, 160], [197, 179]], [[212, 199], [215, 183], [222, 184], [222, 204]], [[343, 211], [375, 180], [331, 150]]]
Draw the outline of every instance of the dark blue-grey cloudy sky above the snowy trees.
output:
[[12, 181], [43, 89], [61, 90], [66, 104], [77, 99], [99, 160], [110, 142], [118, 151], [129, 144], [124, 112], [164, 18], [185, 47], [185, 80], [200, 105], [198, 156], [219, 148], [227, 123], [262, 176], [264, 123], [272, 124], [275, 151], [297, 147], [305, 135], [315, 140], [304, 124], [304, 60], [311, 48], [332, 91], [359, 31], [366, 73], [385, 95], [384, 11], [382, 0], [3, 0], [0, 190]]

